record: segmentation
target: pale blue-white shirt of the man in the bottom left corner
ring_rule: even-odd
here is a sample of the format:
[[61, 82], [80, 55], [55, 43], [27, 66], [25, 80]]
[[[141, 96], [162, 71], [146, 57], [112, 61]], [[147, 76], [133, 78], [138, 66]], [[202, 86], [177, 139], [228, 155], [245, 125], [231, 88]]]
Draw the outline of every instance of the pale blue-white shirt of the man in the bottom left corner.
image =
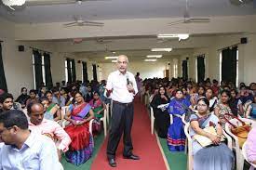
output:
[[59, 170], [58, 154], [53, 141], [31, 133], [19, 150], [4, 145], [0, 150], [0, 170]]

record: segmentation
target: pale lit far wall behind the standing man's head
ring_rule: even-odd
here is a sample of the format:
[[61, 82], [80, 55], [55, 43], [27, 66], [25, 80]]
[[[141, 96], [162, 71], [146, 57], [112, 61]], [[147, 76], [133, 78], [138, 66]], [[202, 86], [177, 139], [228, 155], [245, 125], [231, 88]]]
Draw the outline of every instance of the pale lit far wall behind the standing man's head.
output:
[[[115, 63], [101, 63], [99, 64], [102, 69], [102, 79], [107, 80], [110, 72], [116, 71]], [[136, 72], [140, 72], [142, 79], [164, 77], [164, 71], [167, 69], [166, 62], [129, 62], [128, 72], [132, 72], [134, 75]]]

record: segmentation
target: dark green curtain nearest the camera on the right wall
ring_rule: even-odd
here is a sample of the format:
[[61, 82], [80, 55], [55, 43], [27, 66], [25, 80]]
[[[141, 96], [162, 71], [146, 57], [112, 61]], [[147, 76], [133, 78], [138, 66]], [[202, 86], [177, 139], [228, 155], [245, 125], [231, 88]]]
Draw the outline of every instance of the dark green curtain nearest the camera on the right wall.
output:
[[237, 46], [222, 50], [222, 80], [236, 85], [236, 50]]

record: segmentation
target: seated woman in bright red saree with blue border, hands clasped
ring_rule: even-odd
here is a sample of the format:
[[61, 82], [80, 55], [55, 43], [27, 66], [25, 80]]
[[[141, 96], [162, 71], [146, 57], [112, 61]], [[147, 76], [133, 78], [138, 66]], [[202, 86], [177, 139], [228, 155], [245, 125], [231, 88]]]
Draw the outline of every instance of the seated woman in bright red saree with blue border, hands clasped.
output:
[[72, 140], [65, 156], [68, 162], [79, 165], [87, 162], [92, 154], [93, 138], [89, 133], [88, 123], [94, 115], [80, 92], [74, 93], [74, 99], [75, 103], [69, 106], [65, 115], [65, 119], [70, 122], [65, 131]]

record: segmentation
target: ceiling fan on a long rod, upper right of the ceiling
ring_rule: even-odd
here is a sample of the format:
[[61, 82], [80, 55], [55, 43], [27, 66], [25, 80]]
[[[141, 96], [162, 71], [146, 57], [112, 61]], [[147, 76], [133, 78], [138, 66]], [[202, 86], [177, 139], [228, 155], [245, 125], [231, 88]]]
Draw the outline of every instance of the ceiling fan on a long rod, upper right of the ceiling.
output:
[[210, 20], [208, 18], [191, 18], [188, 11], [188, 0], [186, 0], [186, 8], [184, 11], [183, 19], [170, 22], [168, 25], [176, 25], [181, 23], [207, 23], [209, 21]]

